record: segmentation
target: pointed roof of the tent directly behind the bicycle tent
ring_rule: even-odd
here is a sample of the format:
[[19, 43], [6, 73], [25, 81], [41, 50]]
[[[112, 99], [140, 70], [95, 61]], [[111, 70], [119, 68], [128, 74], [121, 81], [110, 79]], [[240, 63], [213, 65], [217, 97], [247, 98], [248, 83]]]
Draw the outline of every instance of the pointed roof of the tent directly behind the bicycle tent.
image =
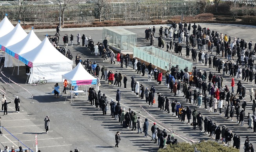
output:
[[7, 49], [13, 51], [16, 54], [26, 53], [38, 46], [41, 43], [40, 39], [34, 34], [34, 31], [31, 30], [29, 34], [20, 42], [8, 46]]

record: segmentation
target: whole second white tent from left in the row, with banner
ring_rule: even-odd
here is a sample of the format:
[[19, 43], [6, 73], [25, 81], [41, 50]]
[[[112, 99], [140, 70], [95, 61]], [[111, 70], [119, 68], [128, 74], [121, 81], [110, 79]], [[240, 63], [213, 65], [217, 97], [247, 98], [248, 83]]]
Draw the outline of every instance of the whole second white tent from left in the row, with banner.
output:
[[[18, 23], [16, 27], [13, 28], [13, 30], [11, 30], [11, 32], [0, 37], [0, 45], [7, 48], [8, 46], [11, 46], [13, 44], [16, 44], [17, 42], [20, 42], [26, 36], [27, 36], [27, 33], [20, 26], [20, 23]], [[11, 56], [15, 57], [15, 53], [13, 53], [11, 50], [8, 50], [8, 51], [4, 50], [4, 51], [5, 51], [4, 67], [18, 66], [18, 60], [14, 60], [11, 57]]]

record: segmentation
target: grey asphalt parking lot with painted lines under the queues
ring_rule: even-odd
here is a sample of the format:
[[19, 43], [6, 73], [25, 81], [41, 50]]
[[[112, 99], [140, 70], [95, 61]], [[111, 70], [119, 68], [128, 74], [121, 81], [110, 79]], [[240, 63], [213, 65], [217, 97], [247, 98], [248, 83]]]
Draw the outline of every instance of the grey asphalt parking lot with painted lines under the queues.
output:
[[[223, 33], [224, 35], [227, 34], [228, 36], [231, 36], [232, 39], [233, 37], [239, 37], [240, 39], [245, 39], [247, 43], [252, 41], [253, 46], [256, 43], [254, 34], [252, 34], [255, 28], [229, 25], [200, 25], [202, 27], [209, 27], [214, 31], [217, 30], [219, 33]], [[149, 26], [124, 28], [138, 34], [137, 37], [140, 38], [138, 39], [138, 46], [149, 46], [149, 42], [145, 42], [144, 39], [142, 39], [145, 36], [145, 28]], [[156, 25], [156, 31], [158, 31], [159, 27], [160, 25]], [[54, 35], [55, 30], [42, 30], [42, 32], [40, 30], [35, 30], [35, 33], [40, 40], [43, 40], [46, 34]], [[98, 41], [102, 41], [102, 28], [85, 28], [83, 30], [61, 29], [60, 32], [61, 36], [64, 34], [73, 34], [74, 40], [76, 40], [75, 36], [78, 33], [81, 35], [85, 34], [87, 37], [91, 36], [95, 44]], [[157, 39], [155, 39], [155, 41], [157, 41]], [[165, 39], [165, 42], [167, 42], [167, 39]], [[60, 42], [60, 44], [62, 45], [62, 42]], [[74, 42], [74, 44], [76, 44], [76, 42]], [[185, 54], [185, 44], [183, 43], [182, 45], [183, 52]], [[113, 65], [109, 62], [102, 62], [102, 58], [96, 57], [95, 55], [89, 53], [89, 51], [82, 47], [82, 45], [74, 45], [73, 47], [68, 46], [67, 48], [71, 50], [73, 57], [78, 54], [82, 57], [83, 60], [89, 58], [91, 61], [96, 61], [100, 67], [104, 65], [112, 71], [118, 71], [122, 74], [125, 74], [128, 78], [127, 89], [110, 86], [103, 80], [101, 81], [102, 85], [100, 86], [100, 90], [102, 90], [102, 92], [107, 95], [108, 99], [111, 100], [115, 99], [116, 90], [120, 89], [122, 104], [121, 107], [124, 107], [126, 110], [131, 108], [136, 112], [140, 112], [138, 115], [143, 118], [143, 122], [144, 118], [149, 119], [149, 128], [153, 125], [153, 122], [156, 122], [158, 127], [161, 129], [169, 129], [168, 132], [170, 132], [170, 130], [175, 131], [175, 138], [177, 138], [179, 142], [192, 143], [191, 141], [198, 142], [200, 140], [210, 140], [206, 134], [203, 134], [199, 131], [194, 131], [192, 130], [192, 126], [181, 124], [181, 122], [178, 121], [176, 117], [160, 111], [157, 108], [157, 103], [154, 104], [154, 107], [148, 107], [148, 104], [145, 103], [145, 100], [140, 100], [140, 98], [131, 93], [131, 76], [134, 76], [136, 81], [139, 81], [145, 87], [151, 87], [151, 85], [153, 85], [156, 88], [156, 92], [160, 92], [164, 96], [169, 97], [171, 101], [172, 99], [176, 99], [185, 107], [190, 106], [192, 109], [196, 108], [196, 106], [191, 104], [185, 104], [185, 99], [183, 99], [182, 93], [181, 95], [174, 97], [168, 88], [163, 86], [164, 83], [158, 85], [156, 81], [149, 82], [147, 81], [147, 76], [140, 76], [139, 74], [136, 74], [131, 67], [125, 69], [120, 68], [120, 66], [117, 64]], [[45, 55], [45, 57], [47, 57], [47, 55]], [[182, 58], [186, 59], [184, 55]], [[191, 58], [186, 60], [192, 61]], [[212, 69], [209, 69], [208, 66], [205, 67], [199, 63], [193, 63], [193, 65], [200, 69], [206, 70], [207, 73], [209, 73], [209, 71], [213, 71]], [[47, 83], [46, 85], [40, 84], [37, 86], [32, 84], [25, 84], [27, 75], [25, 75], [24, 67], [20, 67], [19, 76], [17, 76], [17, 67], [15, 67], [15, 69], [3, 68], [2, 71], [7, 78], [10, 77], [11, 80], [19, 83], [21, 87], [24, 87], [28, 90], [26, 91], [14, 83], [10, 83], [11, 85], [5, 84], [4, 81], [9, 83], [9, 79], [1, 75], [4, 81], [1, 80], [0, 82], [0, 94], [7, 95], [7, 101], [14, 101], [16, 95], [18, 95], [22, 101], [20, 113], [15, 112], [15, 104], [12, 102], [9, 104], [8, 115], [1, 115], [1, 125], [4, 126], [11, 134], [13, 134], [12, 136], [7, 131], [3, 131], [4, 135], [0, 136], [0, 142], [4, 146], [7, 145], [11, 147], [14, 145], [16, 148], [18, 148], [18, 146], [21, 144], [18, 142], [18, 140], [20, 140], [22, 143], [24, 143], [24, 145], [35, 151], [35, 134], [37, 134], [39, 147], [38, 149], [42, 152], [69, 151], [74, 150], [76, 147], [82, 152], [112, 152], [120, 150], [124, 152], [131, 152], [156, 151], [158, 149], [158, 146], [150, 141], [151, 137], [145, 138], [143, 137], [144, 134], [137, 134], [137, 131], [131, 131], [131, 129], [123, 128], [120, 126], [118, 121], [113, 120], [113, 118], [109, 116], [109, 110], [107, 110], [107, 115], [102, 115], [102, 112], [99, 109], [96, 109], [94, 106], [90, 105], [89, 101], [87, 101], [87, 96], [80, 97], [78, 95], [78, 97], [74, 99], [74, 103], [71, 103], [69, 98], [65, 99], [64, 97], [53, 97], [53, 94], [51, 94], [54, 86], [53, 83]], [[230, 86], [231, 78], [229, 76], [224, 76], [224, 78], [225, 79], [223, 85]], [[237, 82], [238, 80], [235, 79], [235, 83]], [[249, 103], [250, 96], [248, 90], [251, 87], [256, 89], [256, 87], [254, 86], [254, 83], [249, 84], [249, 82], [243, 82], [243, 85], [247, 88], [247, 95], [245, 99], [247, 101], [248, 110], [246, 110], [246, 113], [251, 113], [252, 103]], [[79, 90], [85, 90], [85, 88], [79, 87]], [[33, 99], [31, 95], [33, 95]], [[32, 101], [34, 103], [31, 103]], [[233, 122], [227, 121], [227, 119], [224, 118], [224, 115], [218, 115], [218, 113], [215, 114], [213, 112], [203, 110], [202, 108], [198, 109], [198, 111], [202, 112], [204, 117], [207, 116], [212, 118], [212, 120], [220, 126], [226, 125], [229, 127], [229, 129], [232, 130], [233, 133], [237, 133], [241, 136], [241, 152], [243, 151], [242, 147], [245, 141], [245, 136], [249, 136], [251, 138], [251, 142], [254, 144], [254, 146], [256, 146], [255, 134], [253, 134], [252, 131], [247, 128], [247, 120], [245, 121], [245, 126], [240, 127], [237, 125], [237, 123], [235, 123], [235, 118]], [[45, 133], [44, 129], [44, 118], [47, 115], [51, 119], [48, 134]], [[187, 120], [185, 120], [185, 122], [187, 122]], [[121, 132], [119, 148], [114, 147], [114, 135], [117, 131]], [[151, 134], [150, 131], [149, 134]]]

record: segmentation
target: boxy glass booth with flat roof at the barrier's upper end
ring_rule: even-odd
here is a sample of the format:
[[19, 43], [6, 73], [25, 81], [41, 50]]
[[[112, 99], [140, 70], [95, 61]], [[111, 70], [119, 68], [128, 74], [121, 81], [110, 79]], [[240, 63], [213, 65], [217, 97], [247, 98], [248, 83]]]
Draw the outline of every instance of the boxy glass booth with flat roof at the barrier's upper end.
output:
[[137, 34], [118, 27], [104, 27], [102, 39], [107, 38], [108, 45], [119, 52], [133, 51], [137, 45]]

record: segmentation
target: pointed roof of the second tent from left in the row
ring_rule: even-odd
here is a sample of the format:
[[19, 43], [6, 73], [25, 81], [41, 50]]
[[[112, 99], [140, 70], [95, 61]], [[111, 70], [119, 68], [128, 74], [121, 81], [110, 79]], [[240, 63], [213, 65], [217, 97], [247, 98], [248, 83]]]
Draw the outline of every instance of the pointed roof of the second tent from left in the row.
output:
[[0, 44], [2, 46], [8, 47], [11, 46], [17, 42], [20, 42], [22, 39], [24, 39], [27, 36], [27, 33], [23, 30], [23, 28], [20, 26], [20, 23], [16, 25], [11, 32], [8, 34], [0, 37]]

